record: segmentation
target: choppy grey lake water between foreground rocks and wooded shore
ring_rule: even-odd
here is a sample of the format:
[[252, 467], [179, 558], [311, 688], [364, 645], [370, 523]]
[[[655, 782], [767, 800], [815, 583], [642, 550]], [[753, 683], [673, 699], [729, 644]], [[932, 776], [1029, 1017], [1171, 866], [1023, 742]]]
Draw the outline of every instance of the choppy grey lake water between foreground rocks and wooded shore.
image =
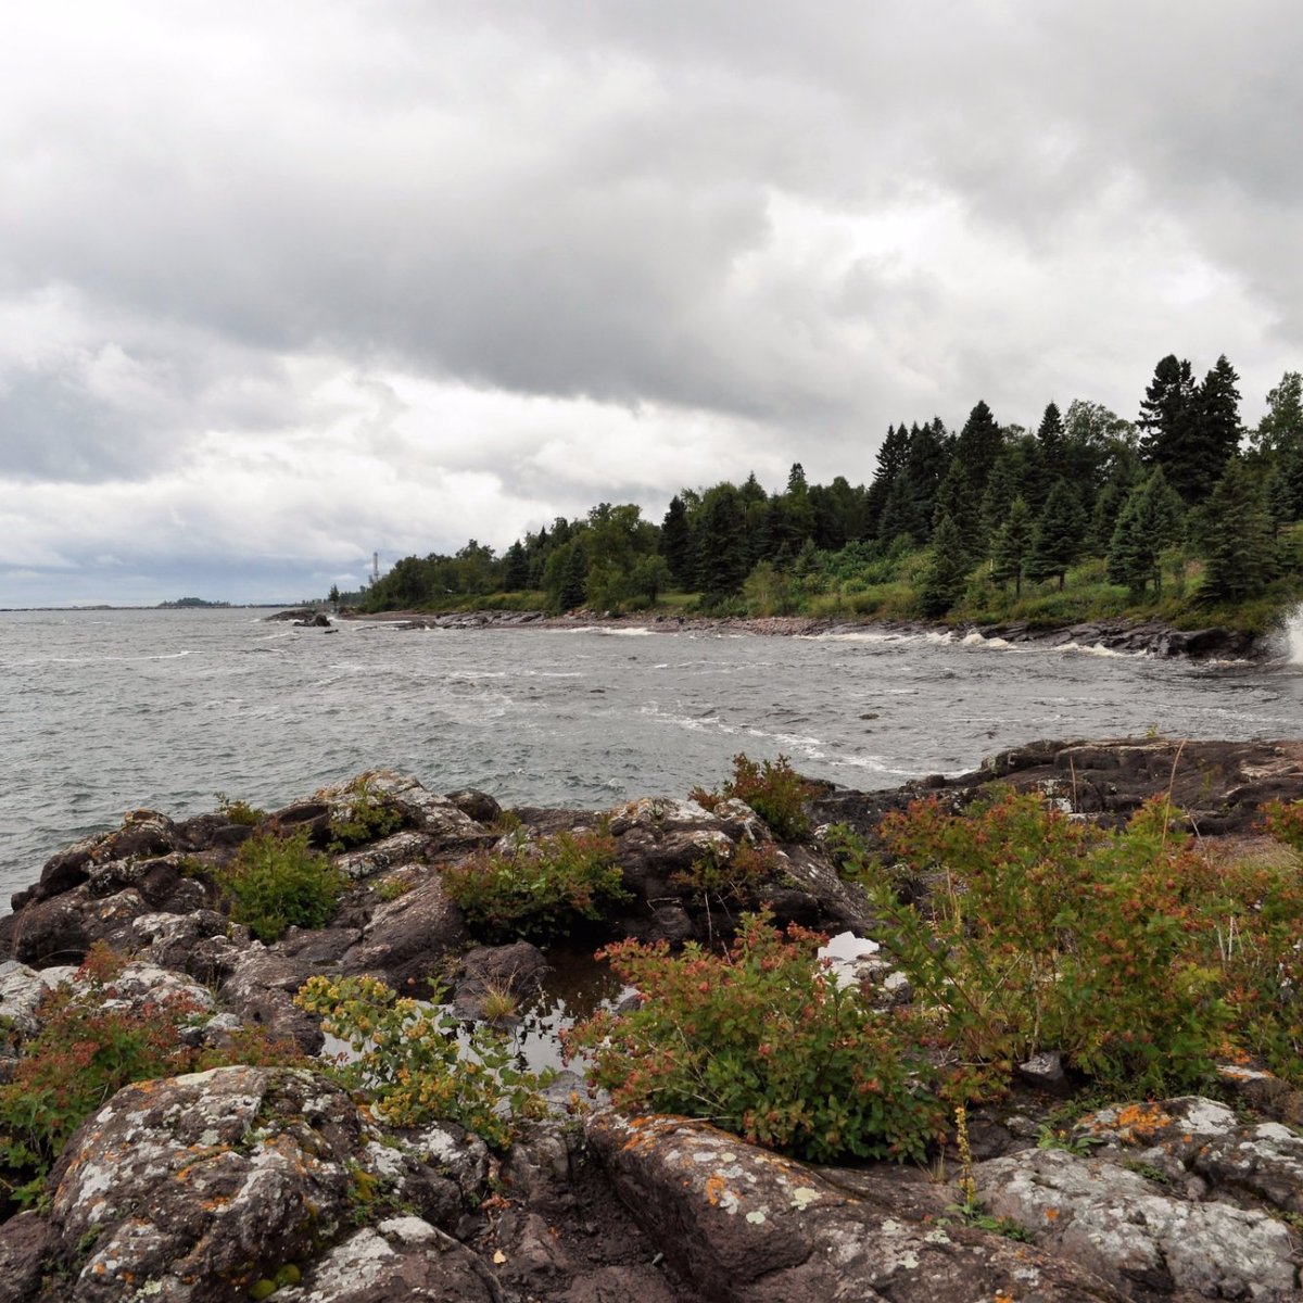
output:
[[0, 900], [89, 831], [224, 792], [276, 807], [390, 766], [602, 807], [788, 754], [851, 787], [1032, 737], [1303, 732], [1303, 678], [870, 633], [337, 632], [250, 611], [0, 612]]

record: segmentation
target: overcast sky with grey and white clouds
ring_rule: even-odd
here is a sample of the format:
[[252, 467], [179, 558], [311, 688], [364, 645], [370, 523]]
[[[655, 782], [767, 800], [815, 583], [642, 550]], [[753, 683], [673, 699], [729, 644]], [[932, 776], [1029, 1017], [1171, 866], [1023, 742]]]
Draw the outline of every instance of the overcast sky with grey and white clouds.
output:
[[979, 399], [1303, 369], [1296, 0], [42, 0], [0, 38], [0, 606], [373, 550]]

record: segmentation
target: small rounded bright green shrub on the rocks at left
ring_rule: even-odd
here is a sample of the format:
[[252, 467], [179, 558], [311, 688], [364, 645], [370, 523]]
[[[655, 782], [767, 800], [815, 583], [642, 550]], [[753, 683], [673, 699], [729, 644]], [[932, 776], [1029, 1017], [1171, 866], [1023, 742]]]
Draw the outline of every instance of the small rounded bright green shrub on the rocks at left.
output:
[[321, 928], [339, 906], [348, 882], [324, 855], [308, 848], [306, 829], [293, 837], [255, 833], [219, 877], [231, 896], [232, 917], [259, 941], [279, 939], [291, 925]]

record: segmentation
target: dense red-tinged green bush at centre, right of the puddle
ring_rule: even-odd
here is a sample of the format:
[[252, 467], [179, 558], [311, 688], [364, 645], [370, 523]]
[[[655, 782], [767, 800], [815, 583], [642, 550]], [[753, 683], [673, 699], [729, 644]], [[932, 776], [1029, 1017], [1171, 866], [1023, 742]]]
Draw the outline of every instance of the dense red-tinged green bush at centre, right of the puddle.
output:
[[882, 1014], [816, 958], [823, 938], [748, 915], [726, 954], [625, 941], [601, 955], [641, 1005], [563, 1033], [616, 1108], [709, 1118], [814, 1160], [917, 1158], [946, 1110], [909, 1012]]

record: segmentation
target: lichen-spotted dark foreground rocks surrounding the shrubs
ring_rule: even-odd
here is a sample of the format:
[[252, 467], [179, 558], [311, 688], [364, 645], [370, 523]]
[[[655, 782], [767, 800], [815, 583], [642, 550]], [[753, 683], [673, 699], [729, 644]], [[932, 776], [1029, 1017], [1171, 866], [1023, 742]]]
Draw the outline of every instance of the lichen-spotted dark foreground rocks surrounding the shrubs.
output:
[[[1303, 743], [1044, 741], [981, 770], [889, 792], [817, 787], [820, 829], [870, 844], [920, 795], [960, 809], [999, 778], [1081, 818], [1118, 822], [1171, 794], [1209, 844], [1263, 840], [1259, 807], [1303, 797]], [[549, 954], [486, 945], [444, 872], [477, 851], [603, 826], [624, 900], [581, 939], [708, 941], [723, 921], [683, 885], [705, 847], [771, 848], [765, 886], [779, 923], [864, 936], [872, 908], [818, 831], [775, 843], [741, 801], [648, 799], [592, 813], [502, 810], [482, 792], [440, 795], [374, 774], [367, 792], [396, 826], [337, 848], [357, 821], [340, 784], [250, 821], [225, 810], [175, 822], [151, 810], [53, 856], [0, 920], [0, 1079], [12, 1081], [50, 1018], [47, 993], [100, 980], [93, 947], [120, 956], [113, 1007], [190, 1010], [195, 1052], [242, 1029], [321, 1052], [294, 1002], [314, 976], [374, 976], [425, 994], [451, 986], [482, 1018], [490, 992], [528, 997]], [[233, 816], [241, 817], [233, 817]], [[331, 856], [348, 890], [324, 925], [263, 943], [223, 912], [223, 865], [255, 825]], [[335, 831], [332, 831], [335, 830]], [[335, 848], [332, 848], [335, 847]], [[870, 966], [883, 999], [908, 998]], [[1191, 1300], [1299, 1296], [1303, 1095], [1227, 1063], [1222, 1098], [1118, 1100], [1038, 1144], [1062, 1106], [1062, 1074], [1029, 1062], [1012, 1093], [968, 1122], [966, 1201], [954, 1141], [929, 1167], [813, 1166], [709, 1123], [624, 1117], [582, 1083], [547, 1091], [546, 1117], [493, 1151], [453, 1123], [387, 1124], [323, 1065], [233, 1063], [124, 1087], [68, 1141], [31, 1210], [7, 1201], [0, 1298], [223, 1303], [528, 1300]], [[12, 1162], [12, 1158], [5, 1160]], [[1010, 1227], [1016, 1227], [1011, 1237]]]

